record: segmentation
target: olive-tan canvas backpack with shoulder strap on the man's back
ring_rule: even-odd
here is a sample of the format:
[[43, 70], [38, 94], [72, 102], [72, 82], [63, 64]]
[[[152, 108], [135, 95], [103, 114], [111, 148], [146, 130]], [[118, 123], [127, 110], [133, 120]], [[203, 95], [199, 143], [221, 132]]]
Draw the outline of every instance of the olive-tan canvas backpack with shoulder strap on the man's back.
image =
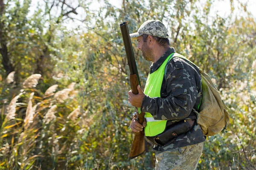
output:
[[[173, 57], [180, 57], [189, 61], [186, 57], [175, 53]], [[195, 65], [193, 62], [189, 61]], [[197, 65], [195, 65], [198, 67]], [[202, 78], [202, 100], [197, 114], [197, 123], [201, 125], [204, 135], [213, 136], [220, 131], [226, 133], [227, 125], [229, 122], [228, 108], [224, 101], [221, 99], [221, 95], [211, 78], [199, 68]]]

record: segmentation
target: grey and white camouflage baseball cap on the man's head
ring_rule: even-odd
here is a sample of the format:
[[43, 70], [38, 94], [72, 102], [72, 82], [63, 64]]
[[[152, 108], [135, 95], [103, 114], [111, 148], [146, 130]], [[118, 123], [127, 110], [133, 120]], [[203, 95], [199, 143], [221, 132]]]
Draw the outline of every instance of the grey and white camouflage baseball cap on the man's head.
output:
[[168, 38], [167, 29], [160, 20], [147, 20], [143, 23], [138, 32], [130, 34], [131, 38], [140, 37], [143, 34], [155, 37]]

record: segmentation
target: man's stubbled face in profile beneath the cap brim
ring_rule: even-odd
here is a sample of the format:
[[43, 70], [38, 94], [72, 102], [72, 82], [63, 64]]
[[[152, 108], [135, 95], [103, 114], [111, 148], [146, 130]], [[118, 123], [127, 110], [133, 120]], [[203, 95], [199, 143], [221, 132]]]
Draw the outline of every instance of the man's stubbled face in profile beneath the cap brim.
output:
[[148, 37], [146, 38], [145, 42], [143, 41], [143, 37], [137, 37], [138, 41], [138, 50], [142, 52], [143, 59], [147, 61], [152, 61], [153, 59], [153, 53], [151, 48], [148, 47]]

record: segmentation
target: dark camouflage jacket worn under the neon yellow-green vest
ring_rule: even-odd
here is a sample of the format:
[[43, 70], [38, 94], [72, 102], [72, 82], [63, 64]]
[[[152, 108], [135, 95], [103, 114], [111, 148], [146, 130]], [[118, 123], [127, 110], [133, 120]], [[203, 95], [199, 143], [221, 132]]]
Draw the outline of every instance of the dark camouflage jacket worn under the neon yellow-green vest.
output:
[[[156, 71], [165, 59], [175, 52], [169, 48], [157, 62], [152, 63], [150, 74]], [[201, 76], [197, 67], [184, 59], [173, 57], [166, 66], [160, 97], [145, 96], [141, 111], [151, 113], [156, 120], [171, 120], [177, 122], [189, 119], [192, 108], [197, 110], [201, 102]], [[191, 130], [181, 134], [167, 146], [155, 146], [154, 150], [164, 151], [176, 147], [198, 144], [205, 141], [201, 126], [195, 124]]]

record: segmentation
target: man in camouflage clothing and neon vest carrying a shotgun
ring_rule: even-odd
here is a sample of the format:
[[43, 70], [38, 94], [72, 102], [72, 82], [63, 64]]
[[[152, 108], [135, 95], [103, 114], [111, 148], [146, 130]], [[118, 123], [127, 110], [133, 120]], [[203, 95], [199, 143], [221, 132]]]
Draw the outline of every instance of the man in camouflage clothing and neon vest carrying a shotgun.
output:
[[[144, 128], [145, 136], [155, 144], [156, 170], [195, 170], [205, 141], [193, 112], [198, 111], [201, 103], [200, 72], [170, 47], [167, 29], [161, 21], [146, 21], [130, 37], [137, 38], [143, 58], [153, 62], [145, 93], [139, 85], [139, 94], [128, 92], [131, 105], [145, 112], [147, 120], [141, 125], [133, 119], [131, 130], [137, 133]], [[169, 127], [185, 123], [188, 129], [183, 133], [167, 134]], [[163, 142], [165, 139], [158, 138], [161, 134], [173, 138]]]

